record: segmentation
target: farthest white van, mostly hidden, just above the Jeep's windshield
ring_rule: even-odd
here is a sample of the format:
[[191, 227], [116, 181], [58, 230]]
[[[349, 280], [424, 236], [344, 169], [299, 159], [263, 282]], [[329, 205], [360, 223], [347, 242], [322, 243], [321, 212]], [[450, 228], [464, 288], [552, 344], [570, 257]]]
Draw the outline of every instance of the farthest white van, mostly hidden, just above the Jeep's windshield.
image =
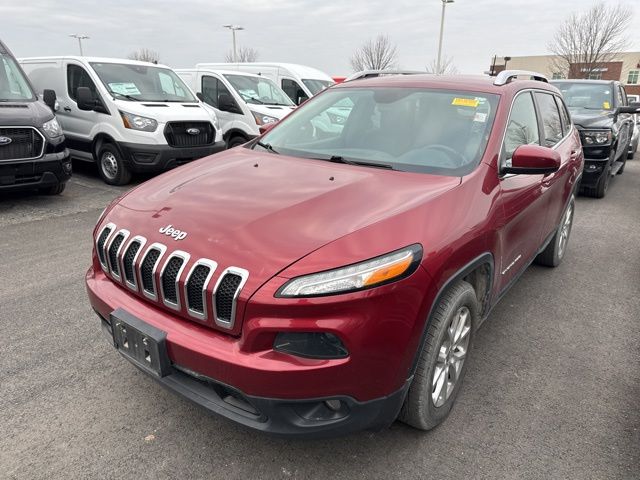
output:
[[254, 73], [273, 80], [296, 104], [307, 101], [334, 84], [326, 73], [294, 63], [199, 63], [196, 68]]

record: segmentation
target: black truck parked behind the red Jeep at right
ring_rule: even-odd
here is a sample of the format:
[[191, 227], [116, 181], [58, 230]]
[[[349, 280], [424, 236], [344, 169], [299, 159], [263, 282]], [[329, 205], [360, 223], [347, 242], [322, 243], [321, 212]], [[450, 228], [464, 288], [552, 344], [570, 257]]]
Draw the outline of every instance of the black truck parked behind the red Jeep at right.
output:
[[635, 110], [620, 82], [554, 80], [580, 132], [585, 167], [582, 193], [595, 198], [607, 194], [612, 176], [624, 172], [634, 129]]

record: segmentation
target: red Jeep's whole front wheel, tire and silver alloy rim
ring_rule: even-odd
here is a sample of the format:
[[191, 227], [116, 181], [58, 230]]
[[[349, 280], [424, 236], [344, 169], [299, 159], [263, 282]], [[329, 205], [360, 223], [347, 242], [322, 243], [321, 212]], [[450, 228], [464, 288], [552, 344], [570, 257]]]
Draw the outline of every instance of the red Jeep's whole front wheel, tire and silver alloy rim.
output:
[[473, 287], [455, 283], [439, 301], [427, 327], [415, 376], [399, 419], [421, 430], [442, 423], [455, 402], [473, 345], [478, 300]]

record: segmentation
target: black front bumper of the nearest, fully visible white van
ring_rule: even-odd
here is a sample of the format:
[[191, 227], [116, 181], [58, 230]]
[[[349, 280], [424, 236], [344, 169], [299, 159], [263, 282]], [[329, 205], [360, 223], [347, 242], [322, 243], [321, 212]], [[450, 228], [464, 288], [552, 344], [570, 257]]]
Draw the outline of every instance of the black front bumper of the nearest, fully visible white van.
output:
[[192, 160], [197, 160], [226, 148], [226, 143], [216, 142], [204, 147], [171, 147], [169, 145], [145, 145], [119, 142], [118, 147], [129, 168], [138, 173], [169, 170]]

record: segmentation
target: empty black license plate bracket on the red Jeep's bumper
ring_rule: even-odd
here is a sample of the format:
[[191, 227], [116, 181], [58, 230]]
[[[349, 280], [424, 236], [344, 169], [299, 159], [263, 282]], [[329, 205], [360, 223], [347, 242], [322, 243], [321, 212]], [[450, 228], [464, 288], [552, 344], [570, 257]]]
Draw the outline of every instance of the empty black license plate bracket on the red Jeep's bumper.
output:
[[130, 362], [158, 378], [171, 373], [167, 334], [122, 308], [109, 315], [113, 346]]

